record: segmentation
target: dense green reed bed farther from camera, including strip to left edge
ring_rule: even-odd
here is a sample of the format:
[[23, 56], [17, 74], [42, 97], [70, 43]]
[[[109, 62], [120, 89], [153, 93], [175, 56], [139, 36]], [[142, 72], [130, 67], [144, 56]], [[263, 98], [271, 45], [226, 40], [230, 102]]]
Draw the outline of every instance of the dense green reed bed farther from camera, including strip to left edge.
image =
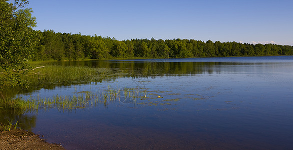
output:
[[[88, 66], [62, 66], [52, 65], [50, 63], [33, 63], [36, 68], [27, 74], [21, 74], [21, 79], [26, 80], [29, 88], [23, 86], [7, 87], [0, 94], [0, 100], [6, 97], [13, 97], [23, 92], [31, 92], [40, 88], [54, 88], [55, 86], [71, 84], [88, 84], [90, 82], [101, 82], [115, 78], [117, 74], [112, 73], [109, 68], [93, 68]], [[2, 96], [3, 95], [3, 96]], [[3, 98], [4, 97], [4, 98]]]

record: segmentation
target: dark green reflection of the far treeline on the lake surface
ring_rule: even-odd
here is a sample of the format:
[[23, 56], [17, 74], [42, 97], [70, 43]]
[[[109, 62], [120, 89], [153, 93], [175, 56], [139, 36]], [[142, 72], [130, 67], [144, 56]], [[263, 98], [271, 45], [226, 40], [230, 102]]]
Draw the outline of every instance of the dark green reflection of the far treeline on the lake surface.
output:
[[[194, 75], [203, 73], [221, 73], [221, 72], [239, 72], [243, 71], [246, 66], [271, 67], [276, 62], [247, 62], [247, 61], [219, 61], [222, 58], [215, 58], [214, 61], [173, 61], [173, 59], [152, 59], [150, 60], [116, 60], [116, 61], [62, 61], [53, 62], [55, 65], [64, 66], [90, 66], [98, 68], [109, 68], [111, 73], [123, 72], [125, 76], [140, 77], [140, 76], [164, 76], [164, 75]], [[288, 63], [288, 62], [277, 62]], [[233, 67], [237, 66], [237, 67]], [[117, 74], [116, 76], [119, 76]], [[113, 76], [113, 78], [115, 78]]]

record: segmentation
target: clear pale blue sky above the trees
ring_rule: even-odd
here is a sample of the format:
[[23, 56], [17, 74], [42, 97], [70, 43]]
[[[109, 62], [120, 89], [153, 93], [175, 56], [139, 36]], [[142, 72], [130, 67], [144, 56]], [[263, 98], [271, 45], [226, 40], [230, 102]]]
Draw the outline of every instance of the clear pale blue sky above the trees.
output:
[[293, 45], [293, 0], [29, 1], [41, 31]]

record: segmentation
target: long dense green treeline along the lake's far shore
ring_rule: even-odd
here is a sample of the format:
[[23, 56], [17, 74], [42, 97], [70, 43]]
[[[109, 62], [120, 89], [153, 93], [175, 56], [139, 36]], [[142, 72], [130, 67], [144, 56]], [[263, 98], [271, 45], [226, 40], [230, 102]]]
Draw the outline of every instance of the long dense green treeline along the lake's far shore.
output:
[[53, 30], [40, 34], [33, 60], [293, 55], [290, 45], [154, 38], [119, 41], [114, 37], [55, 33]]

